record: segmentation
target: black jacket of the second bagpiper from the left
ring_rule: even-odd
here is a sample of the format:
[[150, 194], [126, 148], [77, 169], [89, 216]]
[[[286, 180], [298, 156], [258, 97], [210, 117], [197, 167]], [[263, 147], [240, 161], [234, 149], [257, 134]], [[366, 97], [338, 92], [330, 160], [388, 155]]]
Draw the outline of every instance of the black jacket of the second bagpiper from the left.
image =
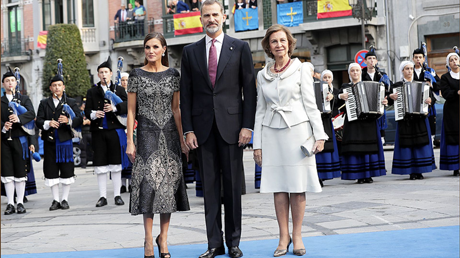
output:
[[[69, 107], [72, 108], [72, 110], [75, 113], [75, 118], [72, 119], [72, 128], [80, 126], [83, 123], [83, 118], [81, 117], [80, 109], [78, 108], [75, 99], [67, 98], [67, 105], [69, 105]], [[41, 129], [41, 140], [46, 140], [50, 142], [55, 141], [54, 139], [51, 140], [48, 137], [48, 135], [50, 135], [50, 133], [54, 131], [55, 128], [50, 127], [48, 130], [45, 130], [43, 128], [43, 124], [46, 120], [54, 119], [55, 121], [57, 121], [60, 115], [62, 115], [62, 105], [59, 103], [57, 107], [54, 107], [52, 97], [40, 101], [40, 105], [38, 106], [36, 124], [37, 127]], [[70, 126], [64, 123], [61, 123], [59, 125], [59, 128], [57, 129], [57, 135], [59, 135], [60, 141], [66, 141], [74, 138]]]

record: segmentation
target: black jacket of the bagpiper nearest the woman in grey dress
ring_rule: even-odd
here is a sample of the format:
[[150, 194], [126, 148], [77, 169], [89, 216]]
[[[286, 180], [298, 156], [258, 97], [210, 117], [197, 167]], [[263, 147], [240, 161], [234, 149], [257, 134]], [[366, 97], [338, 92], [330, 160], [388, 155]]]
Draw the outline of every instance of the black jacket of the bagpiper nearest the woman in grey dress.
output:
[[[113, 82], [110, 81], [113, 85]], [[116, 86], [116, 93], [117, 96], [121, 98], [123, 102], [117, 104], [115, 107], [117, 109], [116, 112], [107, 112], [105, 116], [107, 118], [107, 127], [108, 129], [126, 129], [124, 125], [118, 121], [116, 118], [117, 115], [123, 115], [128, 113], [128, 95], [126, 94], [126, 90], [121, 86]], [[91, 111], [92, 110], [104, 110], [104, 90], [101, 87], [101, 83], [98, 84], [91, 89], [89, 89], [86, 93], [86, 106], [85, 106], [85, 116], [88, 119], [91, 119]], [[102, 123], [102, 118], [97, 118], [95, 120], [91, 120], [90, 124], [90, 131], [97, 131], [99, 129], [99, 125]]]

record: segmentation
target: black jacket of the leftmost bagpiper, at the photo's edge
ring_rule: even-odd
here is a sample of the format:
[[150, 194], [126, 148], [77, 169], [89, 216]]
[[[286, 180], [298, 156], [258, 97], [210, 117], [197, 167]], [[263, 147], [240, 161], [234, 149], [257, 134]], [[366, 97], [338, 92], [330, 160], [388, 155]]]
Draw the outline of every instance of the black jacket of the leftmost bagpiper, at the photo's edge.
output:
[[[29, 123], [30, 121], [34, 120], [35, 118], [35, 110], [34, 110], [34, 105], [32, 105], [32, 101], [29, 99], [28, 96], [26, 95], [21, 95], [19, 98], [21, 101], [21, 105], [27, 109], [27, 112], [23, 113], [22, 115], [19, 115], [18, 118], [20, 120], [20, 123], [13, 123], [13, 128], [11, 128], [11, 137], [19, 137], [19, 136], [28, 136], [22, 128], [22, 124]], [[8, 111], [8, 98], [6, 95], [3, 95], [1, 97], [1, 129], [3, 129], [3, 126], [5, 126], [5, 122], [10, 121], [8, 118], [10, 116], [10, 112]], [[6, 134], [2, 133], [2, 138], [8, 138], [10, 137], [10, 133], [6, 131]]]

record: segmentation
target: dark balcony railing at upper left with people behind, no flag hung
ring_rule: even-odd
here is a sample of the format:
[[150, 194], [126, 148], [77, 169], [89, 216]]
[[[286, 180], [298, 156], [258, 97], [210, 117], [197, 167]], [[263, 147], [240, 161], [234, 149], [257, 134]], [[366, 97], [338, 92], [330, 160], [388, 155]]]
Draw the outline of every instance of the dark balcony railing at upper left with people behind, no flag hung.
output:
[[145, 34], [154, 32], [154, 18], [134, 22], [115, 23], [115, 43], [142, 40]]

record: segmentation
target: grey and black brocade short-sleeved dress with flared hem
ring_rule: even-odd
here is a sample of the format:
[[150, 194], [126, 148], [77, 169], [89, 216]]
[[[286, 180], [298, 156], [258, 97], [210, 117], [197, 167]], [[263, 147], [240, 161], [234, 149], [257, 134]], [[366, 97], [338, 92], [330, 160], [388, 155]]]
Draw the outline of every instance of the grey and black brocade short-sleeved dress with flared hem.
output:
[[132, 215], [190, 210], [171, 108], [179, 78], [173, 68], [157, 73], [135, 68], [129, 74], [127, 91], [137, 93], [138, 121], [129, 203]]

